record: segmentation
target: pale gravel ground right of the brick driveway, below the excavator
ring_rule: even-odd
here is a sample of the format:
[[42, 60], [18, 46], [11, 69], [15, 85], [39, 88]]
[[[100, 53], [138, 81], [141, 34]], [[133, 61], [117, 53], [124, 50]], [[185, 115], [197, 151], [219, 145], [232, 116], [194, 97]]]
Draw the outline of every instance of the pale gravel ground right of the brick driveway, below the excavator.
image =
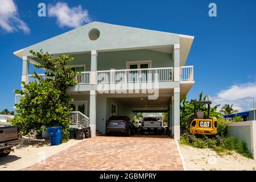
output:
[[209, 148], [195, 148], [180, 144], [180, 150], [189, 171], [254, 171], [256, 160], [232, 152], [228, 155], [217, 155]]

